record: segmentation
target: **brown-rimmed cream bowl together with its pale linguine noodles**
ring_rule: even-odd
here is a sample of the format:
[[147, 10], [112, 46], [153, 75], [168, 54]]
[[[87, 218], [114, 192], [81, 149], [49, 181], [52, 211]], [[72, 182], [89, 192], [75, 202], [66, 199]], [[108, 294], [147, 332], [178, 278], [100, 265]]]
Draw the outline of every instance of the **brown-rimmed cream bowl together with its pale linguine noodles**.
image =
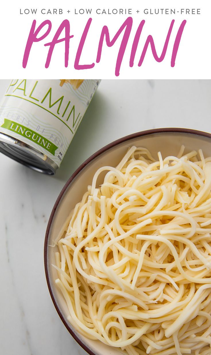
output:
[[87, 159], [45, 236], [55, 308], [90, 355], [211, 354], [211, 135], [155, 129]]

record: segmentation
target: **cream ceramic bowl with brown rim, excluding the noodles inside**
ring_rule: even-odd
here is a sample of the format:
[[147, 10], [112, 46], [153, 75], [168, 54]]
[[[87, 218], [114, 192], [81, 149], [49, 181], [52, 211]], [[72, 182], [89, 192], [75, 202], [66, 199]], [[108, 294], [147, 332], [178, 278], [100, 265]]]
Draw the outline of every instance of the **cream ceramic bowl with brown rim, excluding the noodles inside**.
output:
[[[177, 155], [182, 144], [185, 146], [185, 151], [201, 148], [205, 157], [211, 155], [211, 134], [209, 133], [177, 128], [135, 133], [109, 144], [87, 159], [67, 181], [56, 200], [45, 236], [44, 261], [46, 279], [52, 301], [62, 322], [73, 338], [90, 355], [119, 355], [120, 352], [115, 348], [102, 344], [99, 340], [89, 340], [83, 337], [67, 321], [68, 308], [55, 284], [57, 272], [51, 266], [51, 264], [55, 264], [54, 254], [57, 251], [57, 247], [52, 248], [49, 245], [52, 245], [52, 240], [56, 239], [71, 209], [87, 191], [87, 185], [91, 184], [93, 175], [100, 166], [116, 166], [127, 152], [128, 147], [132, 145], [146, 147], [154, 158], [157, 157], [157, 152], [161, 151], [164, 158], [168, 155]], [[97, 185], [102, 183], [103, 178], [104, 176], [101, 174]]]

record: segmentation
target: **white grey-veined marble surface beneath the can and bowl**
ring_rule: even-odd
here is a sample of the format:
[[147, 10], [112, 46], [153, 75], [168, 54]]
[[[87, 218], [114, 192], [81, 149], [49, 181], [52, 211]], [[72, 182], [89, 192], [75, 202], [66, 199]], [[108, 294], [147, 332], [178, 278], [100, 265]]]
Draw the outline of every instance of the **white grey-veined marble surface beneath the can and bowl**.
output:
[[[0, 97], [7, 86], [0, 80]], [[55, 176], [0, 154], [0, 354], [85, 355], [60, 321], [44, 273], [48, 218], [74, 170], [105, 144], [141, 130], [211, 132], [209, 80], [102, 80]]]

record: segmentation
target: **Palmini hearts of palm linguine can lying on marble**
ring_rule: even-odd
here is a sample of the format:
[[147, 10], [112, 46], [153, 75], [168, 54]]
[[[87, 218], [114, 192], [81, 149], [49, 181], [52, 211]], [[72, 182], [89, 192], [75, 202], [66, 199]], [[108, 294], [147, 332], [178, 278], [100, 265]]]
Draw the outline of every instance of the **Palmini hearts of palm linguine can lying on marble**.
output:
[[99, 82], [13, 79], [0, 104], [0, 152], [55, 174]]

